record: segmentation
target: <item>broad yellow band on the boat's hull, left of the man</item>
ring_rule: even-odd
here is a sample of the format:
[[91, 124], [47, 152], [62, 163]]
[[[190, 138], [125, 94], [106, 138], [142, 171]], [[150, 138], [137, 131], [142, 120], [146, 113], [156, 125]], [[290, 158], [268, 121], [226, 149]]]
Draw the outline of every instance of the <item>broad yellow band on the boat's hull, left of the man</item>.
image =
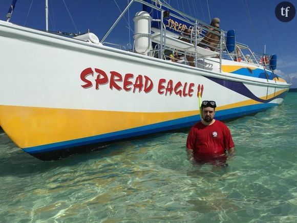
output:
[[2, 127], [20, 148], [101, 135], [197, 114], [198, 110], [145, 113], [0, 106]]

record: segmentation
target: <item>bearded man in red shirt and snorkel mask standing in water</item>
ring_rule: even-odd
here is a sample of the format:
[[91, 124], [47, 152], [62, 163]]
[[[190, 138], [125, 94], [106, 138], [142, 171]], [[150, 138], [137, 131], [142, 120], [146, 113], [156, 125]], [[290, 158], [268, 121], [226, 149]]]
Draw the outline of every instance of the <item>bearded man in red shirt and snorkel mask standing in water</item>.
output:
[[234, 154], [235, 149], [228, 127], [214, 119], [216, 107], [213, 100], [202, 102], [202, 120], [190, 129], [186, 147], [190, 160], [220, 166], [227, 159], [226, 151]]

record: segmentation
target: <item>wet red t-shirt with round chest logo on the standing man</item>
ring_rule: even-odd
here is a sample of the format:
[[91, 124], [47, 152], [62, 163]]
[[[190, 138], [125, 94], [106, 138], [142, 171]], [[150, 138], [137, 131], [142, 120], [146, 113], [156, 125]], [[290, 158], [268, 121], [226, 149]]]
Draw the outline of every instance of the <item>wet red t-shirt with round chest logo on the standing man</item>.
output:
[[228, 127], [222, 121], [215, 120], [212, 125], [205, 126], [200, 121], [189, 131], [187, 137], [188, 149], [193, 149], [194, 158], [210, 158], [225, 154], [234, 147]]

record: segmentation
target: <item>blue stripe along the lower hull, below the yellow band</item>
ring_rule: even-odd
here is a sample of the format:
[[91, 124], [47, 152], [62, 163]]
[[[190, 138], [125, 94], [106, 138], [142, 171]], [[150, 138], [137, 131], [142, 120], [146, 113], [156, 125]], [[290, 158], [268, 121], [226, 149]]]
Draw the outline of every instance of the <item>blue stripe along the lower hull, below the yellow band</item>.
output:
[[[243, 106], [239, 108], [217, 111], [216, 119], [225, 120], [225, 119], [236, 118], [247, 114], [257, 113], [277, 105], [278, 104], [269, 103], [269, 104]], [[34, 154], [34, 153], [50, 152], [55, 150], [63, 150], [71, 147], [78, 147], [78, 146], [84, 146], [84, 145], [95, 144], [95, 143], [103, 143], [103, 142], [114, 141], [118, 139], [131, 138], [131, 137], [140, 136], [140, 135], [147, 135], [151, 133], [190, 127], [190, 126], [193, 126], [195, 123], [197, 123], [198, 120], [200, 120], [200, 116], [193, 115], [189, 117], [179, 118], [179, 119], [170, 120], [170, 121], [164, 121], [162, 123], [137, 127], [133, 129], [127, 129], [127, 130], [122, 130], [122, 131], [117, 131], [117, 132], [112, 132], [112, 133], [107, 133], [107, 134], [102, 134], [97, 136], [63, 141], [61, 143], [53, 143], [53, 144], [48, 144], [43, 146], [25, 148], [24, 151], [30, 154]]]

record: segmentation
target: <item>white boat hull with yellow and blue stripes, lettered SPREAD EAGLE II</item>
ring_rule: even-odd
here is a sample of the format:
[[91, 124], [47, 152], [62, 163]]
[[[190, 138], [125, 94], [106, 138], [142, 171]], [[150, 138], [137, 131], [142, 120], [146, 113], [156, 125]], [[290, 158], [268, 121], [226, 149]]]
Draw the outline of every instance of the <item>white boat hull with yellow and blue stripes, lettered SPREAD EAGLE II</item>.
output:
[[0, 43], [0, 125], [42, 159], [192, 126], [200, 119], [198, 85], [203, 100], [217, 102], [218, 119], [279, 105], [290, 87], [281, 78], [192, 68], [6, 22]]

